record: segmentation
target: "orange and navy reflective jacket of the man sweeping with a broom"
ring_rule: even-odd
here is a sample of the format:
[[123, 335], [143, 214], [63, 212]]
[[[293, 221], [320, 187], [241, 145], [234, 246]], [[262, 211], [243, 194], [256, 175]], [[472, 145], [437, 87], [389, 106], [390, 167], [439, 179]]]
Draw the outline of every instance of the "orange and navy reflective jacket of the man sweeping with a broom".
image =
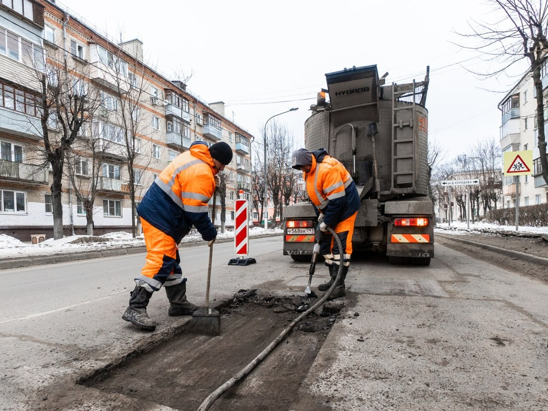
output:
[[208, 215], [215, 168], [206, 143], [196, 141], [175, 157], [152, 183], [137, 208], [139, 216], [179, 243], [193, 226], [209, 241], [217, 235]]

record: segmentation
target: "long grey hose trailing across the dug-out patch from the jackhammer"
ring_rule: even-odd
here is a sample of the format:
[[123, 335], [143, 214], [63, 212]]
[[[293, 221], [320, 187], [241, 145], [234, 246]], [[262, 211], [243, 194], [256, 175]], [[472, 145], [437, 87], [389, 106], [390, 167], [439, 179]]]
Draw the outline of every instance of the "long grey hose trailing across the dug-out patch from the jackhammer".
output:
[[[337, 243], [337, 246], [339, 247], [340, 253], [343, 254], [343, 244], [340, 241], [340, 238], [338, 235], [336, 235], [335, 231], [331, 227], [327, 227], [327, 230], [332, 233], [333, 238], [335, 239], [335, 242]], [[327, 290], [326, 294], [323, 295], [321, 299], [319, 299], [316, 304], [314, 304], [312, 307], [310, 307], [305, 312], [301, 313], [300, 316], [295, 318], [289, 326], [287, 326], [281, 334], [277, 336], [277, 338], [272, 341], [272, 343], [269, 344], [262, 352], [256, 356], [252, 362], [247, 364], [246, 367], [244, 367], [240, 372], [238, 372], [235, 376], [233, 376], [230, 380], [226, 381], [226, 383], [222, 384], [218, 389], [210, 393], [206, 399], [200, 404], [198, 407], [198, 411], [206, 411], [213, 405], [213, 403], [219, 399], [221, 395], [223, 395], [226, 391], [230, 390], [236, 383], [238, 383], [239, 380], [243, 379], [247, 374], [249, 374], [253, 368], [255, 368], [263, 359], [266, 358], [267, 355], [270, 354], [270, 352], [285, 338], [287, 334], [295, 327], [295, 325], [301, 321], [301, 319], [305, 318], [307, 315], [309, 315], [312, 311], [316, 310], [320, 305], [322, 305], [329, 296], [333, 293], [333, 290], [339, 283], [339, 279], [343, 273], [343, 264], [339, 264], [339, 272], [337, 273], [337, 277], [335, 278], [335, 281], [331, 285], [331, 287]]]

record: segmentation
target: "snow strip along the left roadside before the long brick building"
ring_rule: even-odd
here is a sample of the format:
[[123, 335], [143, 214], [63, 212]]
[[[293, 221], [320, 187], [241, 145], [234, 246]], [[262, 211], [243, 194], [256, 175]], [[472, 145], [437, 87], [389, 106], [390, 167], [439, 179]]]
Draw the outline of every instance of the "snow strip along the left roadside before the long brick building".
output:
[[[282, 229], [266, 230], [263, 227], [250, 227], [249, 237], [264, 234], [283, 233]], [[233, 231], [219, 232], [217, 239], [234, 238]], [[187, 242], [206, 242], [196, 230], [182, 239]], [[102, 236], [68, 236], [58, 240], [48, 238], [42, 243], [31, 244], [19, 241], [14, 237], [0, 234], [0, 259], [15, 259], [19, 257], [32, 257], [49, 254], [67, 254], [85, 251], [105, 250], [121, 247], [145, 247], [145, 240], [142, 237], [133, 238], [130, 233], [116, 231]]]

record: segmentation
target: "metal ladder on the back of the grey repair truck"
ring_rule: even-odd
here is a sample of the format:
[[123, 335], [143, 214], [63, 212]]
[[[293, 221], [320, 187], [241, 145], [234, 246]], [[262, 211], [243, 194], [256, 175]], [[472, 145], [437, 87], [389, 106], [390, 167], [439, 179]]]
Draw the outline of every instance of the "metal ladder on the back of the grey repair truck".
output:
[[[392, 83], [392, 192], [415, 192], [417, 155], [414, 135], [416, 99], [424, 105], [428, 84], [428, 71], [424, 82]], [[416, 93], [417, 88], [423, 92]], [[403, 101], [397, 105], [396, 102]]]

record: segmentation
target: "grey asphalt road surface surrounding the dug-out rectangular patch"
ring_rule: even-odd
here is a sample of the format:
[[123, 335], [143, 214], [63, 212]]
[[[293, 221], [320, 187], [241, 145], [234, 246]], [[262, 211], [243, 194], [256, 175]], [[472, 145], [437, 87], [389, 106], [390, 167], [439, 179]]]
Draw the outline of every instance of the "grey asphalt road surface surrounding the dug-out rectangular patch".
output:
[[[249, 256], [257, 263], [249, 266], [227, 265], [234, 257], [232, 243], [214, 247], [215, 302], [229, 301], [242, 289], [257, 289], [268, 301], [303, 294], [309, 265], [282, 256], [281, 237], [252, 239]], [[202, 305], [208, 248], [181, 251], [189, 299]], [[0, 271], [0, 410], [196, 409], [209, 392], [205, 379], [193, 381], [200, 395], [192, 403], [174, 402], [176, 393], [147, 395], [142, 383], [165, 386], [174, 381], [167, 375], [182, 378], [186, 357], [180, 355], [189, 346], [195, 347], [192, 356], [196, 347], [232, 350], [219, 380], [231, 378], [229, 366], [242, 363], [235, 364], [239, 354], [233, 350], [250, 350], [250, 333], [243, 328], [188, 340], [180, 333], [188, 317], [167, 316], [162, 290], [148, 310], [159, 323], [155, 332], [122, 321], [132, 278], [143, 262], [144, 254], [134, 254]], [[312, 285], [326, 274], [319, 265]], [[220, 401], [242, 410], [548, 409], [546, 282], [436, 244], [428, 267], [356, 258], [346, 284], [343, 310], [326, 317], [335, 318], [332, 326], [295, 330]], [[247, 312], [245, 306], [232, 310], [235, 316]], [[292, 315], [291, 309], [249, 310], [265, 316], [260, 322], [265, 341], [255, 338], [256, 347], [276, 334], [267, 328], [279, 329]], [[270, 324], [276, 316], [281, 321]], [[225, 322], [230, 318], [236, 317]], [[155, 367], [159, 360], [149, 356], [166, 346], [179, 362]], [[136, 364], [144, 365], [128, 374], [141, 376], [131, 381], [135, 385], [121, 378], [101, 387], [102, 376]], [[291, 378], [290, 370], [296, 374]], [[274, 389], [267, 390], [269, 385]]]

